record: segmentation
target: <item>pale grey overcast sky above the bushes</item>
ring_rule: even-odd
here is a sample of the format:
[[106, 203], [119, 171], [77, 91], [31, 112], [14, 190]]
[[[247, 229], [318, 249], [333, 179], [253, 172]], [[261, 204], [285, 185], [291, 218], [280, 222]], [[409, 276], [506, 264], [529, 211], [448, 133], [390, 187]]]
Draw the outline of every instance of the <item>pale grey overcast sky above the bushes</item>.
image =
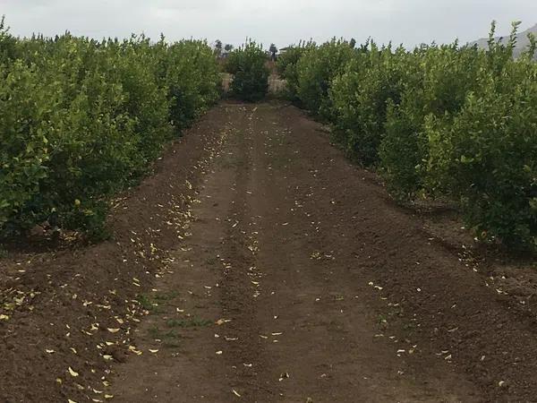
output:
[[55, 35], [70, 30], [94, 38], [144, 32], [167, 39], [248, 36], [268, 47], [299, 39], [368, 37], [413, 46], [486, 37], [490, 21], [499, 33], [511, 21], [522, 30], [537, 23], [537, 0], [0, 0], [0, 14], [14, 35]]

